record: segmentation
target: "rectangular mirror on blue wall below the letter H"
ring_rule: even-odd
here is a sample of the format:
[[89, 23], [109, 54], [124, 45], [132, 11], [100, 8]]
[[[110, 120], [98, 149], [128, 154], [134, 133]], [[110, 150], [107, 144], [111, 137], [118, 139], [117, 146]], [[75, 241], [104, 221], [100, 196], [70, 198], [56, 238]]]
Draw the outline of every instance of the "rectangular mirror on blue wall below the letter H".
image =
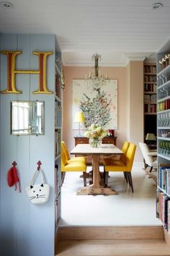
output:
[[12, 135], [44, 134], [44, 102], [12, 101], [11, 110]]

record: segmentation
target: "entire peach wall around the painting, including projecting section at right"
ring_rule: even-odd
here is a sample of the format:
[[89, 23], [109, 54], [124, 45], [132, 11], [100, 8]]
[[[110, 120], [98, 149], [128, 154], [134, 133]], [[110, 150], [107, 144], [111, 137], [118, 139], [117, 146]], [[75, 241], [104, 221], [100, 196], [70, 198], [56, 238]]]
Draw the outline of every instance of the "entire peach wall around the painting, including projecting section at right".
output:
[[[142, 69], [139, 71], [141, 64], [136, 63], [143, 61], [130, 62], [135, 62], [135, 64], [130, 64], [129, 67], [102, 67], [103, 73], [108, 73], [109, 78], [116, 79], [118, 82], [118, 129], [115, 130], [115, 136], [117, 136], [117, 146], [120, 148], [122, 142], [128, 137], [137, 143], [138, 134], [143, 134], [143, 121], [140, 121], [140, 117], [143, 116], [143, 100], [140, 99], [143, 97], [140, 93], [143, 89], [143, 71]], [[84, 79], [90, 70], [91, 67], [64, 67], [66, 89], [63, 91], [63, 140], [66, 141], [68, 150], [73, 148], [73, 137], [77, 133], [77, 130], [73, 130], [71, 125], [73, 118], [71, 109], [72, 80]], [[139, 72], [142, 72], [141, 75], [138, 74]], [[134, 80], [132, 75], [135, 77]], [[140, 114], [138, 113], [138, 103], [140, 103]], [[139, 132], [138, 129], [142, 132]], [[136, 160], [142, 161], [140, 153]]]

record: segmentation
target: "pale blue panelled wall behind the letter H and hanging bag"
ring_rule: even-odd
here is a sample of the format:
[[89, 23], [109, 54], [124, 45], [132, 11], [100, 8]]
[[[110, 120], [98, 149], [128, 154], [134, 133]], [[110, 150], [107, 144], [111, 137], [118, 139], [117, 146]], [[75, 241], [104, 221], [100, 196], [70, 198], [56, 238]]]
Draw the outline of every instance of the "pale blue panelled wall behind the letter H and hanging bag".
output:
[[[32, 51], [53, 51], [48, 56], [47, 85], [55, 90], [55, 37], [54, 35], [1, 34], [1, 50], [22, 51], [17, 56], [17, 69], [38, 69], [37, 56]], [[0, 55], [0, 89], [6, 88], [6, 56]], [[22, 94], [0, 95], [0, 175], [1, 175], [1, 255], [53, 256], [55, 238], [54, 192], [54, 102], [55, 95], [33, 95], [38, 88], [38, 75], [17, 74], [16, 84]], [[10, 135], [11, 101], [45, 101], [45, 135]], [[44, 205], [32, 205], [24, 191], [30, 184], [37, 161], [50, 184], [50, 199]], [[7, 186], [6, 174], [17, 161], [22, 193]], [[38, 180], [37, 180], [38, 182]]]

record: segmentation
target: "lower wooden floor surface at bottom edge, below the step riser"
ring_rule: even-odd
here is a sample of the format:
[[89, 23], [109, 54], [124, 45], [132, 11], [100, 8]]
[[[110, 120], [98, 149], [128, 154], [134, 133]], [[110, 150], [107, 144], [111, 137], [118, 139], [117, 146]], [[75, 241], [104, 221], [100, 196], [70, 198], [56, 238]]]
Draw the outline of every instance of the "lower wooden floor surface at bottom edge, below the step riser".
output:
[[57, 256], [169, 256], [164, 239], [94, 239], [58, 242]]

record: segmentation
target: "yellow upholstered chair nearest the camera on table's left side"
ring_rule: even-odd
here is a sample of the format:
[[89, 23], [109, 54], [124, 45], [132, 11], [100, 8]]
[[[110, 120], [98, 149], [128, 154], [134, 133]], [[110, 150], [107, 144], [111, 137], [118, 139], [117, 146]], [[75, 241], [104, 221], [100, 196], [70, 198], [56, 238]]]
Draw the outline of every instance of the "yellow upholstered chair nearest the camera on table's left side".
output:
[[[66, 171], [83, 171], [84, 187], [86, 187], [86, 162], [84, 161], [67, 161], [64, 150], [61, 150], [61, 172]], [[63, 181], [62, 181], [63, 182]]]

